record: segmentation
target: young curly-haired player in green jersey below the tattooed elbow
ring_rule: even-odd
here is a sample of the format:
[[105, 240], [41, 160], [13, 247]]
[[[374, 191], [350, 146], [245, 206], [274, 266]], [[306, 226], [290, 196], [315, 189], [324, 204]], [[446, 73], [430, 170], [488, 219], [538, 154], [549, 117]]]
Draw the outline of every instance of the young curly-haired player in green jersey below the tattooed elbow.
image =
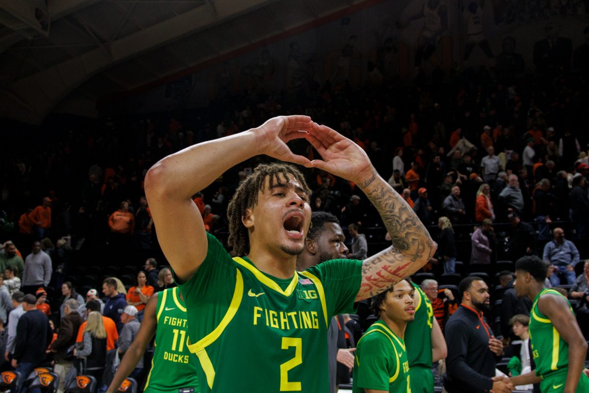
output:
[[409, 280], [372, 298], [378, 316], [356, 345], [353, 393], [411, 393], [409, 361], [403, 335], [415, 318], [415, 288]]

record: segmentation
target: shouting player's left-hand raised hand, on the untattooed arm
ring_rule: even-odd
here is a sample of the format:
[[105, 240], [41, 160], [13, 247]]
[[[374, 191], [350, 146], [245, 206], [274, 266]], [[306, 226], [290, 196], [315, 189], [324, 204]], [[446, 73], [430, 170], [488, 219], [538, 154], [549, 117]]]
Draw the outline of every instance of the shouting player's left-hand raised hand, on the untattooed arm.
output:
[[305, 138], [312, 129], [313, 122], [309, 116], [292, 115], [273, 117], [254, 128], [254, 133], [260, 141], [260, 154], [277, 158], [280, 161], [310, 166], [310, 161], [303, 156], [298, 156], [286, 146], [288, 141]]

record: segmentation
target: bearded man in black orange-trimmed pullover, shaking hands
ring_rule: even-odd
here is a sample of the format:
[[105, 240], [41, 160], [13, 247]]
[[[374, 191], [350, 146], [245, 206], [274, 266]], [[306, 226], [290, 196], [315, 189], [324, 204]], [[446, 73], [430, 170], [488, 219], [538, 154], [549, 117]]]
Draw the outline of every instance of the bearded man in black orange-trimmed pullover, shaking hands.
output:
[[463, 279], [458, 286], [462, 304], [446, 324], [446, 374], [444, 387], [449, 393], [511, 392], [504, 380], [494, 381], [495, 365], [503, 355], [503, 344], [488, 325], [489, 288], [479, 277]]

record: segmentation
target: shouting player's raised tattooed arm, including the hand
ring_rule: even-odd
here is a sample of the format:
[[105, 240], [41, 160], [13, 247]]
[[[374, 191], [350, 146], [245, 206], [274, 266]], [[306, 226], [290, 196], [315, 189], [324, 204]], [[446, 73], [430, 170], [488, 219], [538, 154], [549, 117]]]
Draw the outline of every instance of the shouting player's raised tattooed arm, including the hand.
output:
[[415, 273], [434, 255], [436, 245], [413, 209], [376, 173], [365, 151], [326, 126], [315, 124], [307, 140], [323, 160], [311, 165], [356, 183], [378, 210], [392, 247], [363, 262], [356, 300], [371, 298]]

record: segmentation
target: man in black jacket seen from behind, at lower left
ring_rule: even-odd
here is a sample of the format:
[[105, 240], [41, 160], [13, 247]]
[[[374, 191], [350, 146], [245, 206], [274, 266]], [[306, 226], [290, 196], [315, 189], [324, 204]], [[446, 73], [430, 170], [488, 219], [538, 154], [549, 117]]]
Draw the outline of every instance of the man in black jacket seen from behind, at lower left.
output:
[[[31, 371], [45, 359], [45, 350], [53, 338], [53, 331], [49, 326], [47, 315], [37, 309], [37, 298], [30, 293], [25, 295], [22, 308], [25, 313], [16, 325], [16, 344], [12, 366], [21, 373], [21, 388], [19, 393], [27, 391], [25, 380]], [[38, 389], [31, 389], [35, 393]]]

